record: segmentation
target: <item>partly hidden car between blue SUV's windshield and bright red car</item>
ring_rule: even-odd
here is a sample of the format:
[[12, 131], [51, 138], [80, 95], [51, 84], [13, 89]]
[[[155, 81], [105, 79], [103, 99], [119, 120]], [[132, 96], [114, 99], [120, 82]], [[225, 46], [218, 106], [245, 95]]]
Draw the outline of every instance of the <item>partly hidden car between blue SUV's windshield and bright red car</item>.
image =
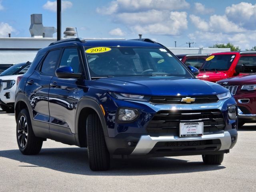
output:
[[189, 54], [182, 57], [181, 61], [186, 66], [193, 66], [197, 69], [200, 69], [208, 56], [209, 54]]

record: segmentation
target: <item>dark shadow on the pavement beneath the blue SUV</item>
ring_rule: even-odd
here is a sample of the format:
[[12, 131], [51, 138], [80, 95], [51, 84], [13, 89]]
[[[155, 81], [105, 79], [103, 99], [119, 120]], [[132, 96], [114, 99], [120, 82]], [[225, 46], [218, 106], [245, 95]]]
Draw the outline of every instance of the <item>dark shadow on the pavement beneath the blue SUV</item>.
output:
[[[86, 148], [47, 148], [38, 155], [26, 156], [19, 150], [0, 151], [0, 157], [17, 160], [21, 167], [45, 167], [52, 170], [82, 175], [137, 176], [177, 174], [220, 170], [226, 167], [205, 165], [174, 158], [113, 159], [108, 171], [93, 172], [89, 168]], [[26, 163], [26, 164], [23, 164]], [[27, 165], [30, 164], [30, 165]]]

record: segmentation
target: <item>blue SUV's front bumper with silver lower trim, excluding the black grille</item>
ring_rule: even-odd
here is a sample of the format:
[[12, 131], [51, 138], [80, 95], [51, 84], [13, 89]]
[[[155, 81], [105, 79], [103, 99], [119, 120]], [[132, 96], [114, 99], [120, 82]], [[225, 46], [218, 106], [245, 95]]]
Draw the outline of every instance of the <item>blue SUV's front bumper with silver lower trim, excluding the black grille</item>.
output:
[[[124, 101], [125, 102], [125, 101]], [[209, 104], [152, 104], [150, 102], [126, 101], [124, 104], [139, 106], [141, 117], [132, 124], [115, 123], [108, 127], [108, 136], [105, 137], [110, 154], [127, 157], [154, 157], [154, 156], [184, 156], [199, 154], [221, 154], [228, 153], [237, 140], [237, 120], [228, 118], [228, 106], [235, 104], [234, 98], [220, 100]], [[120, 105], [118, 105], [120, 106]], [[133, 106], [133, 108], [135, 108]], [[165, 111], [187, 111], [185, 116], [196, 113], [196, 111], [216, 110], [222, 112], [224, 125], [215, 129], [208, 129], [205, 125], [204, 135], [199, 137], [179, 137], [177, 132], [150, 133], [148, 130], [150, 122], [158, 112]], [[151, 115], [148, 111], [152, 111]], [[114, 113], [113, 113], [114, 114]], [[162, 113], [160, 114], [162, 115]], [[164, 115], [164, 114], [163, 114]], [[150, 117], [150, 118], [148, 118]], [[201, 118], [201, 117], [200, 117]], [[206, 118], [206, 117], [205, 117]], [[110, 117], [108, 119], [111, 119]], [[204, 119], [205, 120], [205, 119]], [[154, 120], [153, 120], [154, 121]], [[186, 121], [186, 120], [184, 120]], [[188, 120], [190, 121], [190, 120]], [[192, 120], [202, 121], [202, 119]], [[223, 122], [222, 121], [222, 122]], [[142, 124], [142, 122], [145, 122]], [[168, 125], [169, 126], [169, 125]], [[111, 136], [113, 135], [113, 136]], [[132, 145], [129, 144], [132, 143]]]

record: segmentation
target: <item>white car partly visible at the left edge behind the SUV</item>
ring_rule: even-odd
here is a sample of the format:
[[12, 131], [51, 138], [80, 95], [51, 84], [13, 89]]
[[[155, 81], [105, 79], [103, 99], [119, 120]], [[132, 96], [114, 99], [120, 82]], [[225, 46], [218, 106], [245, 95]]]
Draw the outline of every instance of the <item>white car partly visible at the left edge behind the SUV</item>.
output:
[[11, 66], [0, 74], [0, 106], [3, 111], [14, 112], [16, 80], [30, 67], [30, 62]]

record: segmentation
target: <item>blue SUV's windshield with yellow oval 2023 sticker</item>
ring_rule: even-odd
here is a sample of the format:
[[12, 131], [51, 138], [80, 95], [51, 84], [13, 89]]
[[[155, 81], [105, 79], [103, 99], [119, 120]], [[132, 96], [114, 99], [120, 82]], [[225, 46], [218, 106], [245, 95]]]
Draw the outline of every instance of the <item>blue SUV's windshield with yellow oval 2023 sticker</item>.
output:
[[193, 77], [188, 70], [164, 48], [85, 47], [85, 52], [92, 78], [147, 75]]

